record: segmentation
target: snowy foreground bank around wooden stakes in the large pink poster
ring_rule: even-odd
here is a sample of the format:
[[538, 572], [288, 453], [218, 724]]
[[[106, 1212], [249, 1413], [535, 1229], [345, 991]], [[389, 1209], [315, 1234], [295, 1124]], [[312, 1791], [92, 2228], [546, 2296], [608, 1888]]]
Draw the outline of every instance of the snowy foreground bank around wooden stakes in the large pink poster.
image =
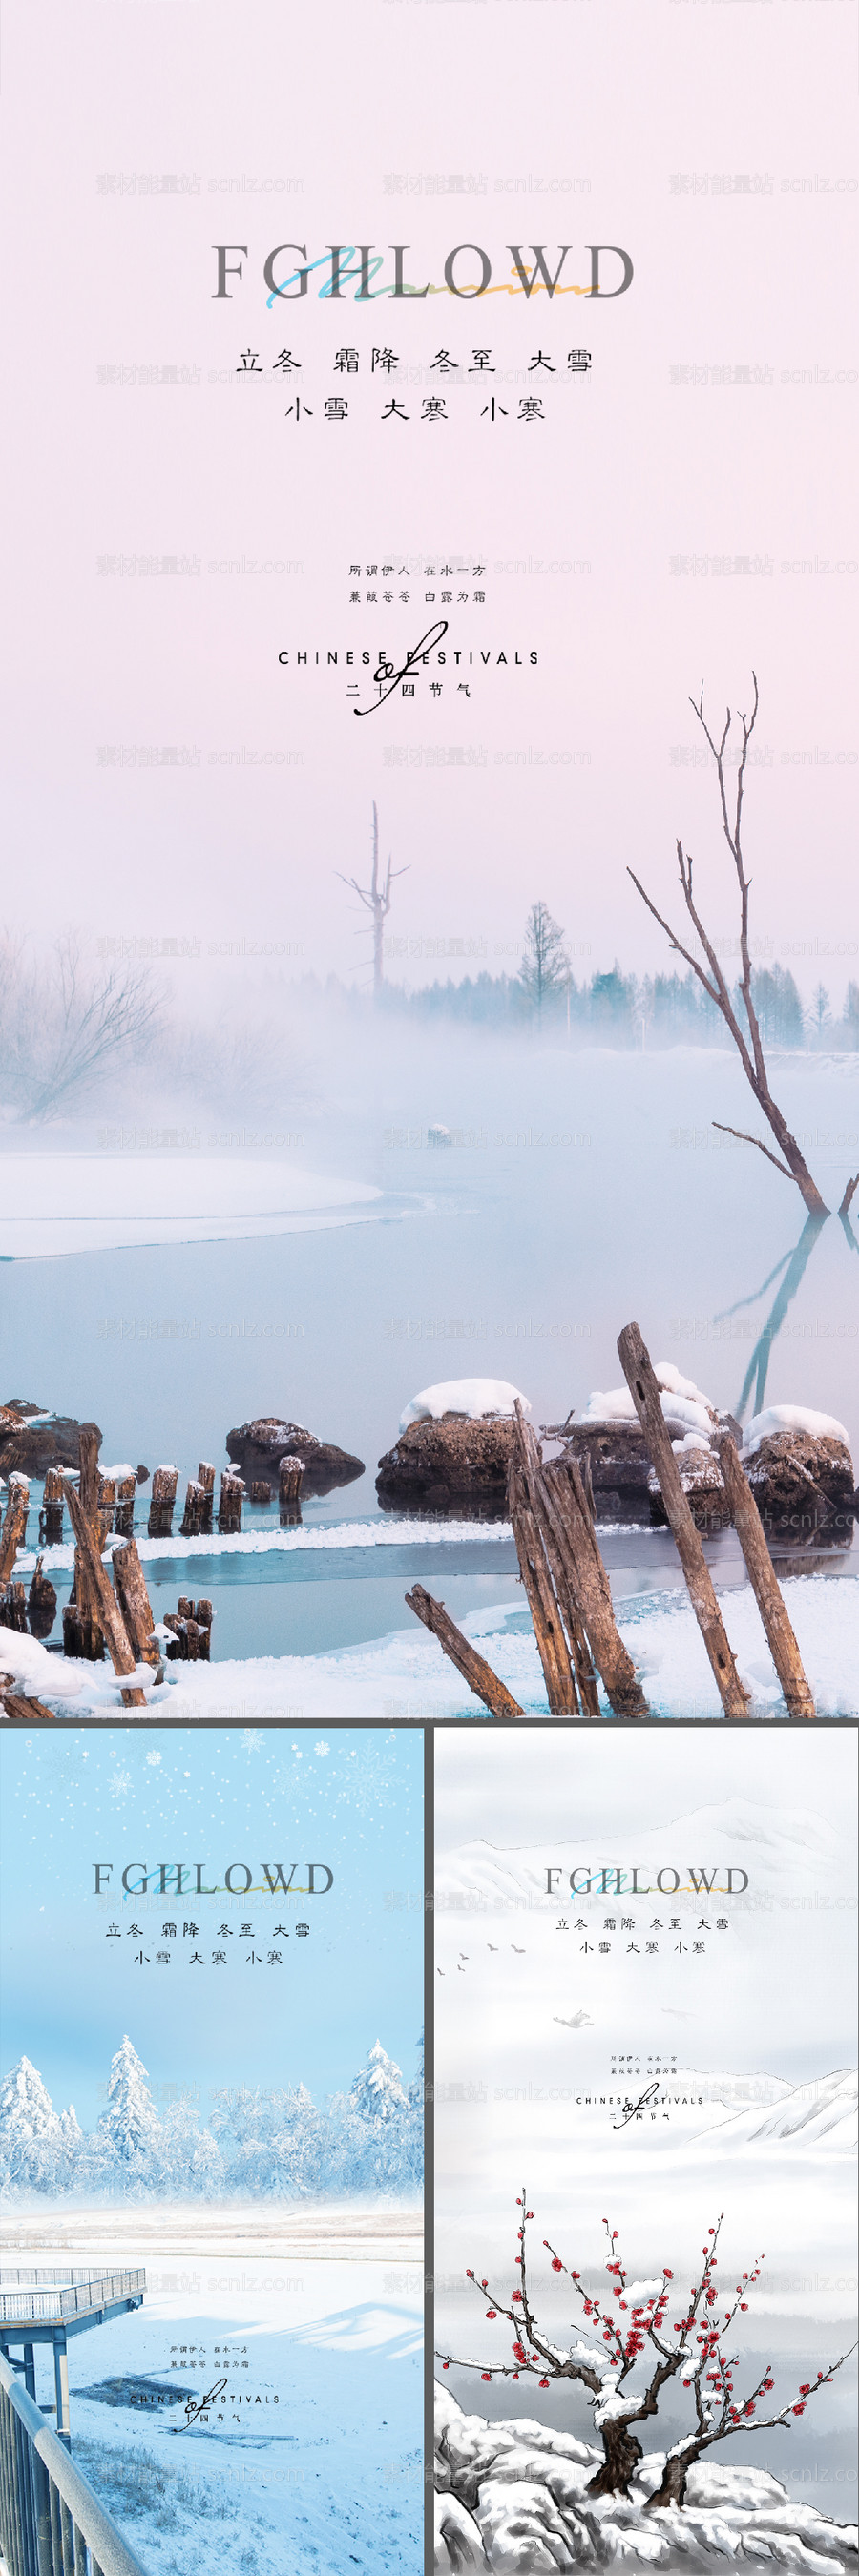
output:
[[[802, 1574], [782, 1584], [802, 1664], [820, 1718], [859, 1716], [859, 1582]], [[650, 1592], [619, 1605], [619, 1631], [642, 1674], [655, 1718], [720, 1718], [722, 1705], [702, 1633], [686, 1592]], [[753, 1718], [784, 1718], [784, 1700], [769, 1656], [751, 1584], [725, 1595], [725, 1625], [738, 1672], [751, 1687]], [[544, 1677], [531, 1623], [518, 1605], [475, 1610], [464, 1631], [508, 1685], [529, 1718], [547, 1716]], [[111, 1664], [80, 1664], [49, 1654], [31, 1636], [3, 1631], [0, 1669], [49, 1705], [72, 1703], [75, 1718], [116, 1716], [119, 1682]], [[418, 1625], [343, 1646], [335, 1654], [250, 1656], [227, 1664], [168, 1664], [152, 1692], [150, 1667], [137, 1669], [147, 1713], [199, 1718], [472, 1718], [472, 1698], [436, 1638]], [[609, 1705], [601, 1698], [601, 1713]]]

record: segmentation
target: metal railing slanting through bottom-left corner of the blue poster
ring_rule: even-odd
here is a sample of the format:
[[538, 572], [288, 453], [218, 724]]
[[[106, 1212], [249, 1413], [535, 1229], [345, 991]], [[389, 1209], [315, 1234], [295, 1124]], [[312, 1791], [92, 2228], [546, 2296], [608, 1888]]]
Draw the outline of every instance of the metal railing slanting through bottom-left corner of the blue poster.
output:
[[3, 2354], [0, 2548], [8, 2576], [147, 2576]]

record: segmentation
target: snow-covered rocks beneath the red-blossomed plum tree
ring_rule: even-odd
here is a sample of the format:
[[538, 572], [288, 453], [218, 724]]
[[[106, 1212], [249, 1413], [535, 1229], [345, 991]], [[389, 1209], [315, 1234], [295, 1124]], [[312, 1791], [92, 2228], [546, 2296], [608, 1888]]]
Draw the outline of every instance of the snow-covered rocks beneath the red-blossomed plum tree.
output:
[[629, 2499], [586, 2496], [601, 2450], [529, 2416], [488, 2424], [464, 2414], [446, 2388], [436, 2388], [436, 2576], [477, 2568], [560, 2576], [617, 2561], [715, 2568], [725, 2558], [810, 2576], [856, 2571], [856, 2530], [792, 2501], [761, 2468], [722, 2468], [707, 2458], [689, 2473], [681, 2509], [645, 2514], [663, 2452], [642, 2460]]

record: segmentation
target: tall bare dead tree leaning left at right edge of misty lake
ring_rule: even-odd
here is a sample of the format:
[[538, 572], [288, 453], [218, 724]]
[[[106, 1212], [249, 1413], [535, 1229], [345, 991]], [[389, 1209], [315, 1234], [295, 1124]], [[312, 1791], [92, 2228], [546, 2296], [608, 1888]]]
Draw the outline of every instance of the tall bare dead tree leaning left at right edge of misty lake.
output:
[[733, 1005], [733, 994], [730, 994], [730, 987], [725, 981], [722, 966], [717, 961], [712, 938], [704, 930], [702, 914], [696, 909], [694, 886], [691, 886], [691, 855], [689, 855], [689, 850], [684, 850], [684, 842], [678, 840], [678, 845], [676, 845], [678, 873], [681, 873], [681, 891], [684, 891], [684, 904], [686, 904], [689, 920], [694, 925], [699, 948], [702, 948], [702, 953], [707, 958], [709, 974], [702, 966], [702, 961], [691, 953], [691, 948], [684, 948], [684, 940], [676, 938], [676, 933], [671, 930], [671, 922], [666, 922], [663, 914], [655, 909], [655, 904], [650, 902], [650, 894], [645, 894], [645, 886], [635, 876], [635, 868], [627, 868], [627, 876], [632, 876], [632, 884], [635, 884], [637, 894], [642, 896], [642, 904], [647, 904], [647, 912], [653, 912], [653, 920], [660, 925], [660, 930], [666, 930], [666, 938], [668, 938], [671, 948], [676, 948], [676, 953], [681, 958], [686, 958], [686, 966], [691, 966], [691, 971], [696, 974], [699, 984], [704, 987], [704, 992], [709, 994], [709, 999], [722, 1012], [725, 1028], [730, 1030], [733, 1043], [738, 1048], [745, 1082], [751, 1084], [751, 1090], [756, 1095], [756, 1103], [764, 1110], [764, 1118], [766, 1118], [766, 1123], [769, 1123], [769, 1128], [771, 1128], [771, 1133], [776, 1139], [779, 1154], [771, 1154], [769, 1144], [761, 1144], [761, 1136], [748, 1136], [745, 1128], [730, 1128], [720, 1118], [715, 1118], [712, 1126], [717, 1126], [722, 1136], [738, 1136], [740, 1144], [756, 1144], [758, 1154], [766, 1154], [766, 1162], [771, 1162], [776, 1167], [776, 1172], [784, 1172], [784, 1180], [795, 1180], [797, 1182], [797, 1190], [800, 1190], [800, 1195], [802, 1195], [802, 1200], [807, 1206], [807, 1213], [810, 1216], [828, 1216], [825, 1198], [820, 1198], [818, 1182], [813, 1180], [813, 1175], [807, 1170], [805, 1154], [802, 1154], [797, 1139], [792, 1136], [792, 1131], [787, 1126], [787, 1118], [779, 1110], [779, 1103], [774, 1100], [774, 1095], [769, 1090], [769, 1074], [766, 1074], [761, 1028], [758, 1028], [758, 1015], [756, 1015], [753, 992], [751, 992], [751, 953], [748, 953], [748, 886], [751, 886], [751, 878], [745, 876], [743, 842], [740, 842], [745, 760], [748, 760], [748, 744], [751, 744], [753, 726], [756, 726], [756, 714], [758, 714], [758, 680], [756, 680], [756, 675], [751, 675], [751, 677], [753, 677], [753, 693], [756, 696], [753, 696], [751, 716], [740, 714], [743, 750], [740, 750], [740, 757], [738, 757], [738, 788], [735, 788], [733, 814], [730, 814], [730, 804], [727, 804], [727, 778], [725, 778], [725, 755], [727, 755], [727, 737], [730, 737], [730, 726], [733, 726], [733, 711], [730, 708], [725, 711], [725, 724], [722, 724], [722, 734], [720, 734], [720, 742], [717, 742], [715, 734], [709, 732], [707, 719], [704, 719], [704, 688], [702, 688], [699, 701], [689, 698], [689, 706], [694, 708], [694, 714], [699, 719], [702, 734], [707, 737], [712, 757], [715, 757], [715, 765], [717, 765], [720, 806], [722, 806], [722, 832], [725, 832], [725, 840], [727, 840], [727, 848], [730, 848], [730, 858], [733, 858], [733, 866], [735, 866], [735, 876], [738, 876], [738, 891], [740, 891], [740, 966], [743, 966], [743, 974], [740, 974], [740, 997], [743, 997], [743, 1012], [745, 1012], [748, 1033], [743, 1030], [743, 1025], [738, 1020], [738, 1012], [735, 1012], [735, 1005]]

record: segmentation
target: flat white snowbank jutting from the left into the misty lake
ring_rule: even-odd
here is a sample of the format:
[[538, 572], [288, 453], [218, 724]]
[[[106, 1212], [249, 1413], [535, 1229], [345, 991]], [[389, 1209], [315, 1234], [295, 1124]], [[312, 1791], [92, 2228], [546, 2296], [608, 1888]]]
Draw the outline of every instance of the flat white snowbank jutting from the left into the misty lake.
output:
[[379, 1200], [371, 1182], [240, 1154], [5, 1154], [0, 1257], [289, 1234]]

